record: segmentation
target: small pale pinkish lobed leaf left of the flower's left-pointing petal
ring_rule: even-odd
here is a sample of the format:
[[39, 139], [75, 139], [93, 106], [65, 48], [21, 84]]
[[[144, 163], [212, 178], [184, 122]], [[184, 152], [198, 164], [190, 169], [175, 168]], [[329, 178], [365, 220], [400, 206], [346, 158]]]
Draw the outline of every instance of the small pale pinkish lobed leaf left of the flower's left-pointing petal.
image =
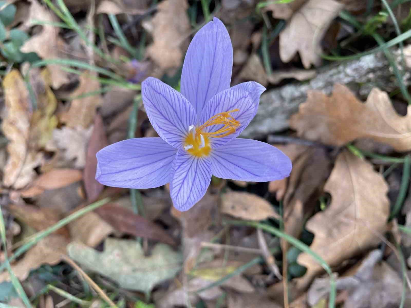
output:
[[64, 150], [66, 161], [74, 161], [75, 168], [84, 168], [85, 151], [93, 126], [88, 129], [62, 127], [53, 131], [53, 140], [59, 149]]

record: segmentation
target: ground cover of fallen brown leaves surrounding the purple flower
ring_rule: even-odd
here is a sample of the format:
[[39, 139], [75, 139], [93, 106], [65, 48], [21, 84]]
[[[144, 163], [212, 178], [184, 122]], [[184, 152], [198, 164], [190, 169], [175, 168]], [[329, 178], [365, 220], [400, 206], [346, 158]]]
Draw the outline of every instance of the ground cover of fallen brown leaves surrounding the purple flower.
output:
[[[21, 52], [37, 53], [42, 60], [75, 57], [85, 64], [95, 60], [127, 78], [139, 73], [125, 69], [136, 57], [145, 67], [142, 76], [163, 78], [176, 89], [187, 43], [212, 16], [221, 18], [231, 35], [232, 85], [254, 80], [269, 88], [266, 95], [276, 87], [286, 89], [313, 78], [323, 69], [321, 53], [339, 52], [330, 44], [339, 48], [352, 44], [351, 50], [360, 51], [376, 46], [361, 45], [364, 34], [337, 18], [344, 16], [343, 9], [367, 27], [377, 23], [373, 31], [387, 40], [392, 37], [382, 29], [395, 33], [390, 22], [372, 18], [384, 7], [374, 3], [367, 13], [374, 15], [367, 19], [358, 15], [367, 10], [365, 2], [354, 0], [270, 2], [259, 9], [256, 1], [223, 1], [221, 6], [211, 1], [208, 11], [206, 1], [163, 0], [154, 5], [152, 1], [66, 0], [57, 1], [58, 8], [61, 3], [81, 29], [93, 27], [99, 32], [94, 43], [114, 57], [113, 62], [86, 51], [90, 44], [75, 30], [60, 28], [58, 14], [35, 0], [14, 1], [14, 20], [7, 20], [7, 35], [16, 27], [29, 37]], [[90, 23], [84, 16], [93, 5]], [[107, 14], [116, 15], [132, 50], [118, 37]], [[285, 26], [275, 34], [278, 20]], [[406, 25], [406, 19], [402, 21]], [[409, 45], [404, 46], [406, 65], [409, 50]], [[314, 254], [332, 269], [336, 305], [388, 308], [399, 307], [403, 300], [403, 307], [410, 305], [403, 275], [411, 272], [411, 186], [403, 181], [403, 174], [404, 157], [411, 151], [411, 120], [410, 107], [399, 94], [367, 85], [370, 92], [363, 102], [352, 91], [362, 85], [337, 84], [329, 96], [309, 91], [290, 119], [291, 130], [282, 133], [286, 138], [280, 142], [285, 144], [275, 144], [293, 163], [288, 178], [270, 183], [213, 178], [204, 198], [187, 212], [172, 207], [168, 186], [143, 189], [136, 200], [142, 207], [136, 213], [127, 189], [107, 188], [95, 180], [95, 154], [127, 136], [157, 136], [139, 107], [142, 77], [130, 78], [126, 87], [115, 80], [106, 88], [101, 78], [107, 76], [90, 67], [68, 70], [50, 63], [27, 69], [30, 64], [6, 61], [0, 58], [1, 133], [6, 140], [1, 142], [5, 163], [0, 164], [0, 206], [7, 252], [10, 257], [26, 243], [35, 243], [10, 265], [28, 295], [46, 307], [61, 302], [53, 291], [52, 296], [41, 294], [48, 283], [81, 299], [100, 301], [95, 293], [79, 287], [75, 271], [70, 275], [60, 271], [67, 267], [66, 255], [119, 306], [127, 302], [138, 307], [144, 298], [145, 305], [164, 308], [189, 303], [323, 307], [330, 301], [331, 281], [323, 276]], [[286, 90], [282, 93], [289, 95]], [[130, 133], [133, 121], [137, 125]], [[356, 147], [346, 147], [349, 143]], [[39, 241], [33, 239], [37, 232], [107, 196], [112, 199], [109, 204]], [[389, 221], [397, 204], [399, 214]], [[307, 244], [309, 251], [301, 252], [261, 229], [230, 225], [233, 219], [282, 230]], [[397, 246], [408, 260], [404, 268]], [[3, 246], [0, 260], [4, 264]], [[41, 287], [30, 293], [32, 279]], [[19, 306], [13, 287], [3, 289], [12, 286], [9, 281], [8, 271], [1, 271], [1, 298]], [[289, 295], [287, 300], [284, 294]]]

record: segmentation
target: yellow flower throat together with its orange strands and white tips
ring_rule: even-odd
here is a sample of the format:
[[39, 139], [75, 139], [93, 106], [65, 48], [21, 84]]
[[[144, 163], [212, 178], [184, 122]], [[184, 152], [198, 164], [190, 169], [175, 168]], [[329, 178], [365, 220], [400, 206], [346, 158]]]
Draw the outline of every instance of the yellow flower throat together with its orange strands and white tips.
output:
[[[240, 122], [233, 118], [230, 113], [239, 111], [233, 109], [210, 117], [205, 123], [194, 130], [194, 125], [189, 127], [189, 133], [185, 138], [184, 148], [196, 157], [208, 156], [211, 151], [210, 138], [222, 138], [231, 135], [240, 127]], [[223, 125], [217, 131], [203, 132], [208, 126]]]

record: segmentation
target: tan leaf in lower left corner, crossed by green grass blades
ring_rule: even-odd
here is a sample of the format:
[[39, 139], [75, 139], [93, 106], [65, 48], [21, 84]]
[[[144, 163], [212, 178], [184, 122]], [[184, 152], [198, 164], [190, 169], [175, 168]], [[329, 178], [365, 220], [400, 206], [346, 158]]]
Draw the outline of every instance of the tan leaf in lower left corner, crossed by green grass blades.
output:
[[[61, 260], [61, 256], [66, 253], [67, 239], [52, 234], [40, 240], [34, 247], [30, 248], [24, 257], [12, 265], [12, 271], [16, 277], [23, 281], [28, 277], [31, 270], [37, 269], [43, 264], [55, 265]], [[0, 274], [0, 283], [9, 281], [9, 272]]]

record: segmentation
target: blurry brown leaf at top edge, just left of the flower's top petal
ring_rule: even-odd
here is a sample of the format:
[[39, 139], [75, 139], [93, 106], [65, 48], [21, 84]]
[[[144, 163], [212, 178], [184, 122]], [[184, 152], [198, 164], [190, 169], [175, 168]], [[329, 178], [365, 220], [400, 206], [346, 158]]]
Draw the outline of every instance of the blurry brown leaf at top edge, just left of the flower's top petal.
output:
[[157, 5], [152, 19], [153, 43], [147, 55], [162, 69], [180, 67], [182, 62], [182, 37], [188, 34], [187, 0], [165, 0]]

